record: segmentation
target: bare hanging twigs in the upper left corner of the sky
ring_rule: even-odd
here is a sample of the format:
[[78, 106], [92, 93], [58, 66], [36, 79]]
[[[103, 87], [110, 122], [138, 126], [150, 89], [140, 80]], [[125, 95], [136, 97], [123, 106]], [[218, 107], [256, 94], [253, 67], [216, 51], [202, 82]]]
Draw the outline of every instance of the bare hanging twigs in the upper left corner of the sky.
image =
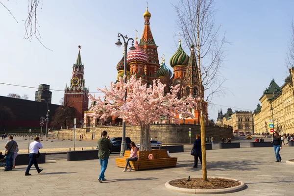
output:
[[[27, 2], [28, 15], [27, 18], [23, 20], [25, 22], [25, 36], [23, 39], [28, 39], [30, 41], [33, 37], [35, 37], [44, 48], [49, 49], [41, 42], [41, 34], [38, 29], [40, 25], [37, 19], [37, 10], [40, 7], [42, 9], [43, 0], [27, 0]], [[7, 8], [7, 6], [4, 5], [3, 0], [0, 0], [0, 4], [10, 13], [10, 15], [18, 23], [12, 12]]]

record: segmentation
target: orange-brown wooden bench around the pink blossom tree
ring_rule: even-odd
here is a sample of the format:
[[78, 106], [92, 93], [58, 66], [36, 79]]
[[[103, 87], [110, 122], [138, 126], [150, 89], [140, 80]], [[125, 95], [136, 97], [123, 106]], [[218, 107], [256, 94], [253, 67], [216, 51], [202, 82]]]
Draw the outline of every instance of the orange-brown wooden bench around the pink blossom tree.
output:
[[[116, 158], [117, 167], [124, 168], [126, 161], [129, 158], [130, 150], [124, 152], [123, 158]], [[154, 159], [148, 159], [149, 154], [153, 154]], [[138, 161], [130, 161], [130, 164], [134, 170], [149, 170], [157, 168], [169, 168], [175, 167], [177, 157], [169, 157], [167, 150], [152, 151], [138, 151]]]

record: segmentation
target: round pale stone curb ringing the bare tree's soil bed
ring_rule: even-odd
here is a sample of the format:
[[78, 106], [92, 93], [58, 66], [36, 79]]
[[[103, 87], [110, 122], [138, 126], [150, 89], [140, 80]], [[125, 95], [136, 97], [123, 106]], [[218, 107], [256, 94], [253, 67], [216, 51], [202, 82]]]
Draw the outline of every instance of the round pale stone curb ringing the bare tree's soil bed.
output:
[[[212, 176], [210, 178], [223, 178], [223, 179], [229, 179], [229, 180], [236, 180], [238, 182], [240, 182], [241, 184], [239, 186], [236, 187], [231, 187], [231, 188], [225, 188], [225, 189], [186, 189], [186, 188], [178, 188], [178, 187], [174, 187], [172, 185], [170, 185], [170, 181], [166, 182], [165, 187], [166, 189], [170, 190], [170, 191], [174, 191], [174, 192], [178, 192], [178, 193], [189, 193], [189, 194], [225, 194], [225, 193], [233, 193], [233, 192], [238, 192], [238, 191], [242, 191], [243, 189], [246, 188], [246, 184], [241, 181], [241, 180], [237, 180], [237, 179], [233, 179], [233, 178], [226, 178], [226, 177], [216, 177], [216, 176]], [[173, 180], [177, 180], [177, 179], [186, 179], [186, 178], [176, 178]]]

